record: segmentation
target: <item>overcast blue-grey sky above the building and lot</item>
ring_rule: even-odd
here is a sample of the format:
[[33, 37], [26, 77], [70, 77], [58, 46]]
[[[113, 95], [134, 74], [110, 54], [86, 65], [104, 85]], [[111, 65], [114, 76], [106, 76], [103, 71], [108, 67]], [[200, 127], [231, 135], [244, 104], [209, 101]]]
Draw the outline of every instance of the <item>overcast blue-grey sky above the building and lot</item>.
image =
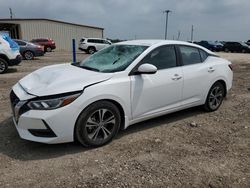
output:
[[0, 18], [49, 18], [105, 28], [105, 37], [190, 40], [250, 39], [250, 0], [0, 0]]

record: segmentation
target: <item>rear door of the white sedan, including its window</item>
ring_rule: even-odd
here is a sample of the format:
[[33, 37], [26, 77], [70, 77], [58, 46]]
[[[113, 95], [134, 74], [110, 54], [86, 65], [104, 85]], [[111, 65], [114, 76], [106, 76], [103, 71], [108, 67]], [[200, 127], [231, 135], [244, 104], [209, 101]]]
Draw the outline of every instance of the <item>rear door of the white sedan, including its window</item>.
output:
[[210, 65], [208, 54], [198, 48], [179, 46], [183, 64], [182, 105], [200, 104], [206, 96], [215, 67]]

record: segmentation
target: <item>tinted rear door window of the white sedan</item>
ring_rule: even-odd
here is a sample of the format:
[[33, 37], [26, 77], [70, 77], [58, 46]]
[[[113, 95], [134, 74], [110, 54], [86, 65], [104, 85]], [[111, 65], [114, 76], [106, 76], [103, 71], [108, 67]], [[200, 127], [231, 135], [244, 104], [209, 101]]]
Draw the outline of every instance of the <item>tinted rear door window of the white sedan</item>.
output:
[[183, 65], [201, 63], [199, 49], [189, 46], [180, 46], [180, 51]]

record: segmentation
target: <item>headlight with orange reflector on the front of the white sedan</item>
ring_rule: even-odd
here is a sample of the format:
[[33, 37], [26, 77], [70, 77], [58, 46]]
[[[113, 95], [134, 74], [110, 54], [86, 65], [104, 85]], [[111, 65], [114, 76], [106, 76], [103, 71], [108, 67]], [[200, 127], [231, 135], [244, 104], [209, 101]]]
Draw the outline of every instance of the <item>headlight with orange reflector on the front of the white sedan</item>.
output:
[[28, 106], [32, 110], [53, 110], [72, 103], [80, 95], [81, 93], [54, 99], [30, 101]]

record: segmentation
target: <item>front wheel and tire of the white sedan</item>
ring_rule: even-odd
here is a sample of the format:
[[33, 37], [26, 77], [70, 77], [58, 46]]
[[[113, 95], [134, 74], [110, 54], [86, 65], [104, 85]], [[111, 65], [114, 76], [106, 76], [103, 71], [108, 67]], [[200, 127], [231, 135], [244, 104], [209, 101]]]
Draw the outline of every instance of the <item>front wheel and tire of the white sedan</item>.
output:
[[119, 109], [109, 101], [88, 106], [77, 120], [76, 139], [83, 146], [99, 147], [110, 142], [121, 124]]

